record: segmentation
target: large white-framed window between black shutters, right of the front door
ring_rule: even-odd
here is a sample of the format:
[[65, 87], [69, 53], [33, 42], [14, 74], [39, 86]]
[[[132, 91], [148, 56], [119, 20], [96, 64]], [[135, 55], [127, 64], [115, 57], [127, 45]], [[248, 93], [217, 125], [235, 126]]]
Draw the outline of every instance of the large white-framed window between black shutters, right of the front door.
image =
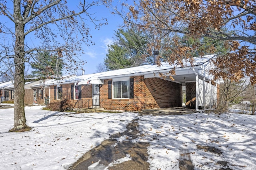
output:
[[129, 81], [113, 82], [114, 98], [129, 98]]

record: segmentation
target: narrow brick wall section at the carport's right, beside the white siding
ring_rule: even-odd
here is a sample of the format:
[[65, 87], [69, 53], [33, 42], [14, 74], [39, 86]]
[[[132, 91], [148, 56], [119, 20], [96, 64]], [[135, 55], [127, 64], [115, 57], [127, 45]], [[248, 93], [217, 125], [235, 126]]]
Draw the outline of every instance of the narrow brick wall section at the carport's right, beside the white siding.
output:
[[186, 83], [186, 107], [196, 108], [196, 82]]

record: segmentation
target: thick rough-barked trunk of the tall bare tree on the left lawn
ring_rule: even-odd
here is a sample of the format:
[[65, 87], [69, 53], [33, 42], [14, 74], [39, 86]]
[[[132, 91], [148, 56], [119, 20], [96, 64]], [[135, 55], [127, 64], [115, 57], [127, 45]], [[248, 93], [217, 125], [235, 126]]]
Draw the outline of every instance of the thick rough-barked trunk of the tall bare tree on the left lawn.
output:
[[24, 96], [25, 96], [25, 51], [24, 51], [24, 22], [20, 13], [20, 1], [14, 3], [15, 23], [15, 75], [14, 75], [14, 128], [10, 131], [26, 131], [31, 128], [26, 125]]

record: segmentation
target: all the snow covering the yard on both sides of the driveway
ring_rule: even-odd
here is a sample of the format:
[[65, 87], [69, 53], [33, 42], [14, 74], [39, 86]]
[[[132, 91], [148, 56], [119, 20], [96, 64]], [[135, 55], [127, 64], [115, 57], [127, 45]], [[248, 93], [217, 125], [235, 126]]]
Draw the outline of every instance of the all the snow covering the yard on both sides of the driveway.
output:
[[[148, 161], [152, 170], [179, 169], [182, 150], [190, 153], [196, 170], [220, 169], [218, 161], [227, 162], [233, 170], [256, 169], [256, 115], [73, 114], [41, 107], [25, 107], [27, 124], [33, 129], [23, 133], [8, 132], [14, 111], [0, 109], [0, 169], [67, 169], [111, 134], [125, 131], [129, 121], [136, 118], [144, 135], [133, 142], [150, 143]], [[214, 147], [221, 154], [198, 146]]]

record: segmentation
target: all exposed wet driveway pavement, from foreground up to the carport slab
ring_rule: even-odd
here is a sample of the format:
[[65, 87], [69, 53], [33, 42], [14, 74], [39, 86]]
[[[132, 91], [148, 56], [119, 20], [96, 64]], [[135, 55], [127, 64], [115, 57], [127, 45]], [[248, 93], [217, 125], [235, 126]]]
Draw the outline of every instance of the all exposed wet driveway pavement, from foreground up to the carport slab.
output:
[[[165, 109], [145, 109], [139, 115], [177, 115], [196, 113], [194, 109], [184, 107]], [[149, 170], [150, 164], [147, 162], [147, 147], [149, 143], [132, 143], [133, 139], [140, 137], [138, 130], [139, 119], [134, 119], [128, 123], [126, 131], [110, 136], [110, 139], [103, 141], [99, 146], [86, 152], [69, 170]], [[118, 142], [120, 137], [126, 137], [125, 141]], [[120, 160], [120, 162], [118, 162]], [[122, 161], [124, 160], [124, 161]], [[179, 159], [180, 170], [194, 170], [190, 153], [187, 150], [180, 150]]]

